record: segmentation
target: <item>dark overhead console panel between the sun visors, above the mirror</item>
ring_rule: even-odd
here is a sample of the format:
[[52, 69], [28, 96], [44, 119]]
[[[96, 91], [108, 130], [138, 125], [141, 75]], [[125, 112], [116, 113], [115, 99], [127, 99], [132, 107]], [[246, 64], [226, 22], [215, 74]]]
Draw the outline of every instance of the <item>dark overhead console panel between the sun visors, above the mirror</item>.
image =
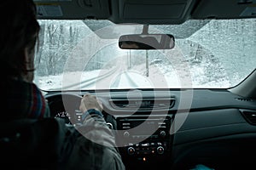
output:
[[[189, 18], [193, 0], [119, 0], [115, 23], [181, 24]], [[116, 15], [114, 15], [116, 16]]]

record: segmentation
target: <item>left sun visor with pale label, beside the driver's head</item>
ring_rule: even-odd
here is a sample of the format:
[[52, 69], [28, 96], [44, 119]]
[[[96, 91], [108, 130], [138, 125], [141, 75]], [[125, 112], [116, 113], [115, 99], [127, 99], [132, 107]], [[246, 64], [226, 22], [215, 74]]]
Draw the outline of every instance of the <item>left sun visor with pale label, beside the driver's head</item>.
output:
[[38, 19], [108, 19], [110, 15], [106, 0], [34, 0], [34, 2], [38, 9]]

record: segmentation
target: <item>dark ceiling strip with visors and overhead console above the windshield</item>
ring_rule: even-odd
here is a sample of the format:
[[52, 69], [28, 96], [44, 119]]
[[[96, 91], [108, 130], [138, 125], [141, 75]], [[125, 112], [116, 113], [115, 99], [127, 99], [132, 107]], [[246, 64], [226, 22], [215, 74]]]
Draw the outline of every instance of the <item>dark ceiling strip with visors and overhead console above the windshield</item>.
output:
[[[255, 18], [252, 0], [34, 0], [38, 19], [177, 25], [186, 20]], [[143, 10], [142, 10], [143, 8]], [[227, 9], [229, 12], [227, 12]]]

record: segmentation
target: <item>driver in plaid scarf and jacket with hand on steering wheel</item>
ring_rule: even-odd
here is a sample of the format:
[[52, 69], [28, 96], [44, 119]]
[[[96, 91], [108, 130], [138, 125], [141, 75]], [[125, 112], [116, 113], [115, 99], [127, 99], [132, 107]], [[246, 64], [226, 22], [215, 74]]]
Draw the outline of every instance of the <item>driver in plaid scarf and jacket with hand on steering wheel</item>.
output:
[[[32, 0], [0, 2], [0, 60], [1, 60], [1, 122], [49, 117], [49, 106], [40, 89], [33, 83], [34, 53], [40, 26]], [[79, 109], [84, 113], [82, 135], [64, 138], [63, 149], [71, 150], [67, 160], [60, 160], [63, 169], [125, 169], [115, 147], [113, 133], [102, 116], [102, 104], [95, 96], [84, 95]], [[90, 127], [90, 131], [88, 131]], [[100, 127], [100, 128], [99, 128]], [[67, 133], [77, 133], [65, 124]], [[89, 137], [93, 136], [91, 140]], [[75, 142], [73, 142], [75, 141]]]

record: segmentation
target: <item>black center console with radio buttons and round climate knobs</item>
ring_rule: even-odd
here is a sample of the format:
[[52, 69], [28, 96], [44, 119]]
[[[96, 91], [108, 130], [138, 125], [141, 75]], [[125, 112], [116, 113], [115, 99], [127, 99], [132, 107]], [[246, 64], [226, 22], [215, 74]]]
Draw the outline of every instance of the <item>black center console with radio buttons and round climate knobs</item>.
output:
[[123, 161], [130, 166], [127, 169], [160, 167], [160, 162], [170, 159], [172, 116], [117, 116], [116, 123], [116, 142]]

